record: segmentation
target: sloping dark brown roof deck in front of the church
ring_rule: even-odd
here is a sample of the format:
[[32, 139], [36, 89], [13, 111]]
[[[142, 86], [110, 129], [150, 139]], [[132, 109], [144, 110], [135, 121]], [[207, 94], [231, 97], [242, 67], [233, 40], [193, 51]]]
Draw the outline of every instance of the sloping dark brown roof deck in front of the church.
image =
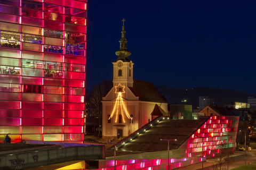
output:
[[[167, 149], [167, 141], [160, 139], [177, 139], [170, 141], [170, 150], [178, 149], [190, 135], [192, 135], [205, 120], [162, 120], [155, 126], [152, 126], [145, 133], [133, 139], [131, 142], [125, 143], [120, 149], [122, 154], [130, 152], [155, 152]], [[118, 155], [118, 154], [117, 154]]]

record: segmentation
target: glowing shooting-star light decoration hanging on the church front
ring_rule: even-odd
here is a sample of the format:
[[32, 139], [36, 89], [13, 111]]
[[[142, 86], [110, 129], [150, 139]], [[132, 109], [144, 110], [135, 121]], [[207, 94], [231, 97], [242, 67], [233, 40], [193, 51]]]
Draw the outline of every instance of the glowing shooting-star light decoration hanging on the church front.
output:
[[125, 86], [122, 86], [121, 83], [119, 83], [118, 86], [115, 86], [115, 89], [116, 89], [115, 94], [118, 94], [118, 96], [116, 98], [116, 103], [115, 103], [114, 109], [113, 109], [110, 117], [108, 118], [108, 119], [112, 118], [114, 116], [115, 112], [116, 112], [116, 121], [115, 121], [115, 123], [117, 122], [117, 117], [118, 117], [117, 115], [118, 115], [119, 105], [120, 105], [121, 115], [122, 115], [122, 119], [123, 119], [124, 123], [125, 123], [124, 113], [126, 114], [126, 116], [128, 118], [131, 118], [129, 113], [127, 112], [127, 109], [124, 105], [124, 101], [123, 101], [123, 98], [122, 98], [122, 94], [125, 93], [124, 88], [125, 88]]

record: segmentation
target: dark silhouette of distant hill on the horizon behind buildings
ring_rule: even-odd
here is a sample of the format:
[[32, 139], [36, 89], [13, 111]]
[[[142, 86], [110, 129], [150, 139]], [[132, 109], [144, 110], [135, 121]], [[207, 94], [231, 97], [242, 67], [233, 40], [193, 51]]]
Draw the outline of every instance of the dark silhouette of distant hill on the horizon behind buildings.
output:
[[246, 92], [210, 87], [169, 88], [157, 86], [156, 88], [161, 95], [165, 96], [170, 105], [187, 104], [192, 105], [193, 109], [197, 109], [199, 106], [199, 96], [214, 99], [214, 105], [217, 106], [230, 105], [234, 101], [247, 103], [248, 97], [256, 97], [256, 95], [246, 94]]

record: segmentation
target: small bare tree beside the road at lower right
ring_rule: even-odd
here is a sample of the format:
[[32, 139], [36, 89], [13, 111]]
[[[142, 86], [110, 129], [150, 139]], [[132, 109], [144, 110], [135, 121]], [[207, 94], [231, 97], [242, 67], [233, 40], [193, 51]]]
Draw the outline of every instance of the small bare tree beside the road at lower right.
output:
[[221, 170], [221, 166], [230, 160], [229, 155], [231, 155], [232, 148], [228, 148], [227, 144], [221, 143], [220, 145], [216, 146], [216, 150], [217, 152], [213, 157], [213, 160], [219, 165]]

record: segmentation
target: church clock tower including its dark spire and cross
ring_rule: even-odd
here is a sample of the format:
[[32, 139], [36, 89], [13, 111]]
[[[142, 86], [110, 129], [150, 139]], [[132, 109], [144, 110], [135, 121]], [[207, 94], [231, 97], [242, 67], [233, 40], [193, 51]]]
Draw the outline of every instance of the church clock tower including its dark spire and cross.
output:
[[118, 86], [121, 83], [126, 87], [133, 87], [133, 63], [129, 56], [131, 52], [127, 50], [127, 40], [125, 38], [124, 19], [122, 28], [122, 37], [120, 39], [120, 49], [116, 51], [117, 60], [113, 62], [113, 85]]

